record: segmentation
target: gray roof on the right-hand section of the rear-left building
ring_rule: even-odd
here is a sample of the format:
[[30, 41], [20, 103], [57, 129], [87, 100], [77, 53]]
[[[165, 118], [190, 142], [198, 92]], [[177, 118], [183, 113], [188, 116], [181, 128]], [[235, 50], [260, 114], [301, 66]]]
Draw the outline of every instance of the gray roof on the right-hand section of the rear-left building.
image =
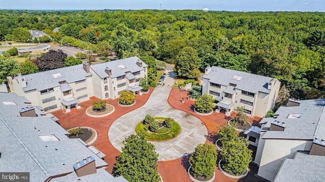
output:
[[[105, 62], [101, 64], [90, 65], [90, 68], [102, 79], [107, 78], [108, 75], [105, 72], [105, 68], [109, 67], [112, 69], [111, 78], [116, 78], [126, 75], [127, 71], [138, 72], [144, 70], [148, 65], [142, 62], [142, 67], [139, 67], [136, 63], [139, 60], [137, 56], [129, 57], [125, 59], [119, 59], [115, 61]], [[124, 66], [125, 68], [121, 68]]]

